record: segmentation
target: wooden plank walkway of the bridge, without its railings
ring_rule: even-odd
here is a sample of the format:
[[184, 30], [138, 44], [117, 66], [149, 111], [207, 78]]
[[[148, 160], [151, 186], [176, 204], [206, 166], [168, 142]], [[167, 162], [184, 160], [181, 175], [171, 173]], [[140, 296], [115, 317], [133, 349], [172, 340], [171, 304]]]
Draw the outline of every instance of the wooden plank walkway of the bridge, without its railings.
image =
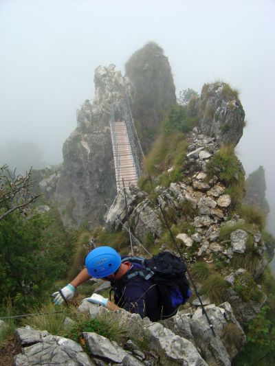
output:
[[[118, 150], [115, 151], [114, 141], [117, 141]], [[117, 190], [123, 187], [122, 179], [125, 187], [134, 184], [137, 185], [137, 172], [133, 162], [133, 155], [131, 152], [131, 145], [124, 121], [115, 122], [115, 139], [112, 137], [113, 143], [113, 159], [115, 161], [115, 179]], [[117, 167], [116, 155], [118, 154], [119, 167]]]

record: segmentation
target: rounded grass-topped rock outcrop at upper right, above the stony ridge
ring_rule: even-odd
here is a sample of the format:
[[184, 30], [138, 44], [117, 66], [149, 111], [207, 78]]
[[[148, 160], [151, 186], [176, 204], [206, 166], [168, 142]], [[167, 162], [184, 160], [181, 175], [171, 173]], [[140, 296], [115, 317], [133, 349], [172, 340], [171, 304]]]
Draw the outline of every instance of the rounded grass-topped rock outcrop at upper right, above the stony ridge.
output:
[[228, 84], [204, 84], [197, 109], [201, 133], [215, 137], [219, 144], [238, 144], [245, 113], [237, 92]]

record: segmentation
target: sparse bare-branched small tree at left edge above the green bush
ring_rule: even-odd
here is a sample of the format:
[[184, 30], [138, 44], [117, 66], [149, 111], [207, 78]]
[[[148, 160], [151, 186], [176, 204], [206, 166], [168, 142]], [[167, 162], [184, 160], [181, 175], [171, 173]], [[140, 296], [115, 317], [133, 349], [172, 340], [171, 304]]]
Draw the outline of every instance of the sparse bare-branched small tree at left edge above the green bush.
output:
[[32, 168], [25, 175], [10, 172], [8, 165], [0, 167], [0, 220], [17, 209], [23, 209], [34, 202], [40, 194], [32, 195]]

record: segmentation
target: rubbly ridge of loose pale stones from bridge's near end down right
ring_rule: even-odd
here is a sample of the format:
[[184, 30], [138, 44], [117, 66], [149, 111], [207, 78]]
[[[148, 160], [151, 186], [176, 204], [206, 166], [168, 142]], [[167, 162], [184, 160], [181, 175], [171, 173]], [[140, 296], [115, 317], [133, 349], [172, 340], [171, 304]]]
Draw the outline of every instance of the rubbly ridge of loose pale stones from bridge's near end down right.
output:
[[[149, 194], [137, 187], [126, 189], [131, 230], [137, 238], [151, 233], [155, 243], [159, 242], [165, 228], [160, 220], [162, 215], [158, 205], [168, 217], [173, 216], [179, 227], [181, 222], [188, 222], [192, 230], [188, 227], [177, 233], [186, 261], [221, 266], [224, 298], [232, 305], [236, 319], [245, 323], [256, 317], [266, 299], [261, 287], [256, 284], [256, 279], [261, 277], [267, 266], [265, 242], [260, 231], [245, 230], [243, 218], [236, 214], [229, 218], [232, 197], [226, 193], [226, 187], [219, 179], [219, 171], [212, 179], [207, 176], [207, 163], [219, 150], [217, 140], [202, 135], [194, 128], [188, 134], [188, 141], [184, 172], [189, 178], [170, 183], [168, 188], [155, 187], [157, 205], [151, 201]], [[243, 172], [241, 163], [239, 172]], [[104, 216], [109, 231], [124, 229], [122, 223], [127, 226], [124, 205], [124, 194], [119, 192]], [[221, 238], [221, 231], [224, 230], [228, 231], [227, 238]], [[145, 255], [138, 242], [135, 244], [135, 252]], [[159, 242], [159, 250], [165, 249], [170, 249], [170, 244]], [[250, 271], [241, 268], [241, 264], [246, 265], [245, 258], [255, 261]], [[247, 288], [253, 288], [254, 296], [245, 294]]]

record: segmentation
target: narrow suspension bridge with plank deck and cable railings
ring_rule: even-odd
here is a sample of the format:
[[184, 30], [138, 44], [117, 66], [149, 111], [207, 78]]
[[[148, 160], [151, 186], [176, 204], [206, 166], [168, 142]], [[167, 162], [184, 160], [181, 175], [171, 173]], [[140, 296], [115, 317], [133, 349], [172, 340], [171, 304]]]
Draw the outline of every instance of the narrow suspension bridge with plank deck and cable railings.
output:
[[142, 173], [138, 150], [140, 150], [142, 157], [144, 154], [140, 139], [137, 137], [126, 91], [124, 91], [124, 120], [115, 121], [112, 95], [110, 114], [115, 181], [117, 191], [119, 191], [131, 184], [137, 185], [137, 179]]

